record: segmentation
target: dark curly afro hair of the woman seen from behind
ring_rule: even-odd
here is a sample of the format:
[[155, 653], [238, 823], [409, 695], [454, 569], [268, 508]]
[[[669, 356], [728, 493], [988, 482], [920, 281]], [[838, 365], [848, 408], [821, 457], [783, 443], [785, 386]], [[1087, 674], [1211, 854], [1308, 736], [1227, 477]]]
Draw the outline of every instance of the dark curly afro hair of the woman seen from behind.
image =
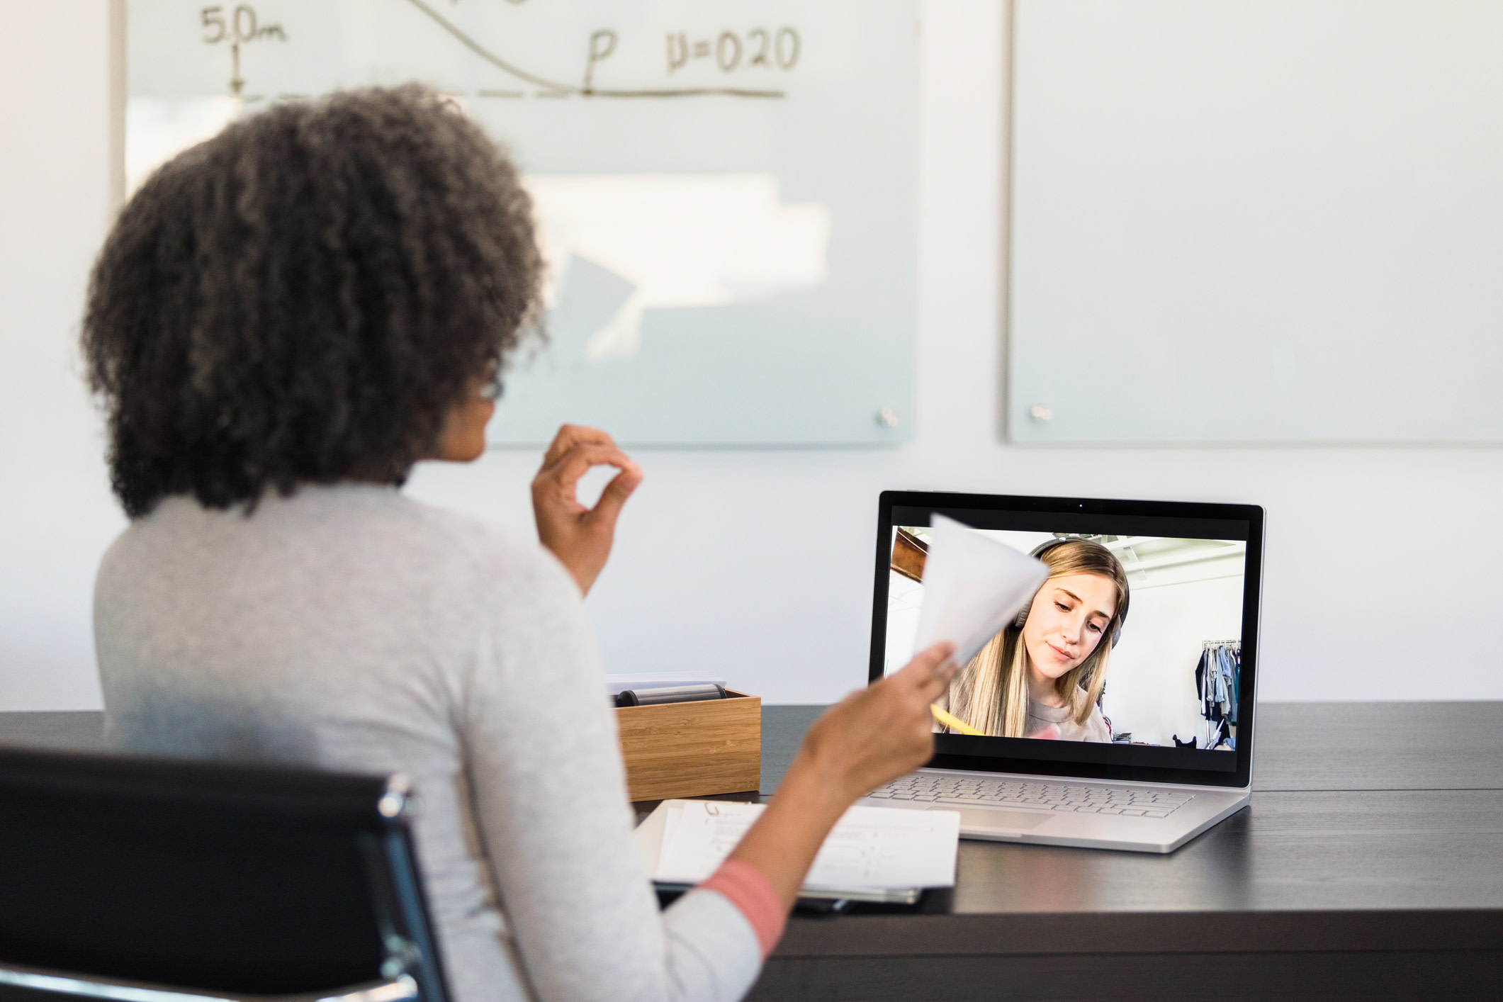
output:
[[83, 326], [132, 518], [168, 494], [400, 484], [537, 329], [532, 204], [416, 87], [284, 104], [159, 168], [95, 263]]

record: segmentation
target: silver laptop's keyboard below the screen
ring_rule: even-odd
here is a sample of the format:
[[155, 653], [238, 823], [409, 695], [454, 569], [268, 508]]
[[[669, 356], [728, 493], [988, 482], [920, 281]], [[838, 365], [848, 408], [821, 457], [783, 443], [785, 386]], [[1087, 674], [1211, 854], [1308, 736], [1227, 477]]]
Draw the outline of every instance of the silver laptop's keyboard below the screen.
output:
[[873, 790], [882, 801], [920, 801], [957, 807], [1013, 807], [1078, 814], [1168, 817], [1195, 799], [1177, 790], [1129, 790], [1118, 786], [1076, 786], [1025, 780], [987, 780], [915, 772]]

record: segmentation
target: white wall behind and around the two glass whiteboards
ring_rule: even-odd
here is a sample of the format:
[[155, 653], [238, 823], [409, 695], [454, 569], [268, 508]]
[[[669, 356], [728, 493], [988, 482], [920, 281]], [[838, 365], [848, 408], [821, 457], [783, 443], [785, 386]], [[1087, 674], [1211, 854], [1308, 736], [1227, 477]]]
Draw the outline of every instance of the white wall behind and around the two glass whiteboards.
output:
[[[89, 571], [119, 517], [66, 359], [105, 212], [104, 8], [21, 5], [0, 36], [0, 709], [98, 700]], [[876, 494], [944, 488], [1266, 505], [1264, 699], [1503, 699], [1503, 451], [1001, 442], [1001, 5], [929, 0], [923, 45], [917, 439], [639, 455], [589, 598], [610, 670], [714, 670], [774, 703], [861, 685]], [[410, 490], [525, 526], [537, 458], [433, 466]]]

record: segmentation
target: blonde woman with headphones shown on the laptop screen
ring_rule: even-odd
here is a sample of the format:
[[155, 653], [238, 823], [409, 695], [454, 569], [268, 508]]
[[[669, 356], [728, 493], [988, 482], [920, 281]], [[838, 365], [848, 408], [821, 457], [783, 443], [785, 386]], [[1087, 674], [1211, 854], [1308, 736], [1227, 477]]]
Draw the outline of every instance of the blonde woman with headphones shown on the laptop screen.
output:
[[999, 738], [1111, 741], [1097, 702], [1127, 617], [1127, 572], [1090, 539], [1045, 544], [1049, 578], [956, 676], [948, 709]]

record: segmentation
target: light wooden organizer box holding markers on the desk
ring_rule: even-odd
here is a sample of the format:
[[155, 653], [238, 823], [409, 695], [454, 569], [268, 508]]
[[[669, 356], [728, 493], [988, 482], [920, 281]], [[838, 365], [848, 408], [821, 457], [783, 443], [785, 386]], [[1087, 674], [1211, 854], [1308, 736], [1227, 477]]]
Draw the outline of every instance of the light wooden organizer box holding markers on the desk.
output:
[[621, 757], [633, 801], [756, 790], [762, 783], [762, 697], [621, 706]]

